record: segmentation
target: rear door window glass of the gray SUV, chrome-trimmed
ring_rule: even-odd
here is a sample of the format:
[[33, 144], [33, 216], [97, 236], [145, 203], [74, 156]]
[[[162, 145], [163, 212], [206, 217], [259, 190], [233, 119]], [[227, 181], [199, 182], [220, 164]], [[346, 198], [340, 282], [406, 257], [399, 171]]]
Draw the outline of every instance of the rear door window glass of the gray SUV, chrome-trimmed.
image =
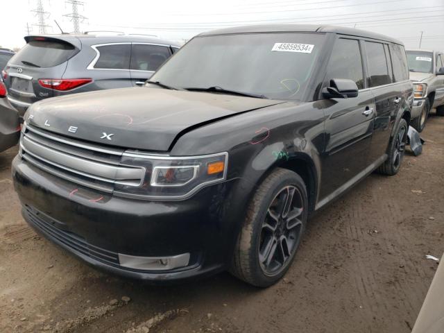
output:
[[171, 56], [167, 46], [133, 44], [130, 69], [138, 71], [157, 71]]

